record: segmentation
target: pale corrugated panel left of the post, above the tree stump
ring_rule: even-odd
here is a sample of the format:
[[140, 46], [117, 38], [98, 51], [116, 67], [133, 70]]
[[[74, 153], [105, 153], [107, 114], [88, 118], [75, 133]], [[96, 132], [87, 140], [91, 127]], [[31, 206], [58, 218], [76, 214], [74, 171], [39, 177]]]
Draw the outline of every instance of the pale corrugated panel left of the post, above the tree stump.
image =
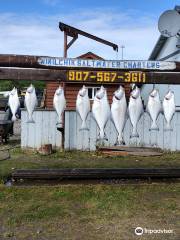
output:
[[39, 149], [44, 144], [61, 148], [62, 136], [57, 130], [57, 114], [51, 110], [37, 110], [33, 113], [35, 123], [27, 123], [27, 112], [21, 112], [21, 147]]

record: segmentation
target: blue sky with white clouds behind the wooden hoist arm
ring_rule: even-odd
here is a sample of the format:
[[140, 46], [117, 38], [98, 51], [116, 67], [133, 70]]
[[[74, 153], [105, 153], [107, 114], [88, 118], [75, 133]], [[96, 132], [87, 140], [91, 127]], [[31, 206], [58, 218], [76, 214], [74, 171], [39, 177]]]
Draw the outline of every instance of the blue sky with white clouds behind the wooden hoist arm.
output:
[[[158, 18], [180, 0], [0, 0], [0, 54], [63, 56], [59, 22], [119, 45], [79, 36], [68, 57], [93, 52], [105, 59], [148, 59], [158, 37]], [[70, 39], [69, 39], [70, 40]]]

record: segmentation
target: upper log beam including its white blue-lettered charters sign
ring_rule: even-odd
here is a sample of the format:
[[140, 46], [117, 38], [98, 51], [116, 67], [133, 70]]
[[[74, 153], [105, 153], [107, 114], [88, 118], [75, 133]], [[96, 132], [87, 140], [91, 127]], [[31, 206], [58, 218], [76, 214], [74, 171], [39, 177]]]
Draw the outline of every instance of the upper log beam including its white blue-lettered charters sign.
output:
[[80, 71], [159, 71], [179, 72], [179, 62], [140, 60], [94, 60], [0, 54], [0, 67], [35, 68]]

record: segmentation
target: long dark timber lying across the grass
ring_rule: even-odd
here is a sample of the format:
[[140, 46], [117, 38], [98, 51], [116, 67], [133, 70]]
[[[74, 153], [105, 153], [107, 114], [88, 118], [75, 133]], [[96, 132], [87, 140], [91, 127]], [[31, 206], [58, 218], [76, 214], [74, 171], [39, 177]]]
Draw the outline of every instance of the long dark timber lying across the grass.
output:
[[180, 168], [65, 168], [15, 170], [14, 180], [180, 178]]

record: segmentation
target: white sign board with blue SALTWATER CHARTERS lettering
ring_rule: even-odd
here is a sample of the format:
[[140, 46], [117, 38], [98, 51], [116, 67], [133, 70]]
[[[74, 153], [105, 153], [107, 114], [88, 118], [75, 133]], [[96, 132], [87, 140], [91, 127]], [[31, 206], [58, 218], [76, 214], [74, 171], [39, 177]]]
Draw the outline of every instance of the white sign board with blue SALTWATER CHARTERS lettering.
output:
[[175, 69], [174, 62], [140, 60], [93, 60], [75, 58], [39, 57], [38, 63], [49, 67], [101, 68], [101, 69]]

